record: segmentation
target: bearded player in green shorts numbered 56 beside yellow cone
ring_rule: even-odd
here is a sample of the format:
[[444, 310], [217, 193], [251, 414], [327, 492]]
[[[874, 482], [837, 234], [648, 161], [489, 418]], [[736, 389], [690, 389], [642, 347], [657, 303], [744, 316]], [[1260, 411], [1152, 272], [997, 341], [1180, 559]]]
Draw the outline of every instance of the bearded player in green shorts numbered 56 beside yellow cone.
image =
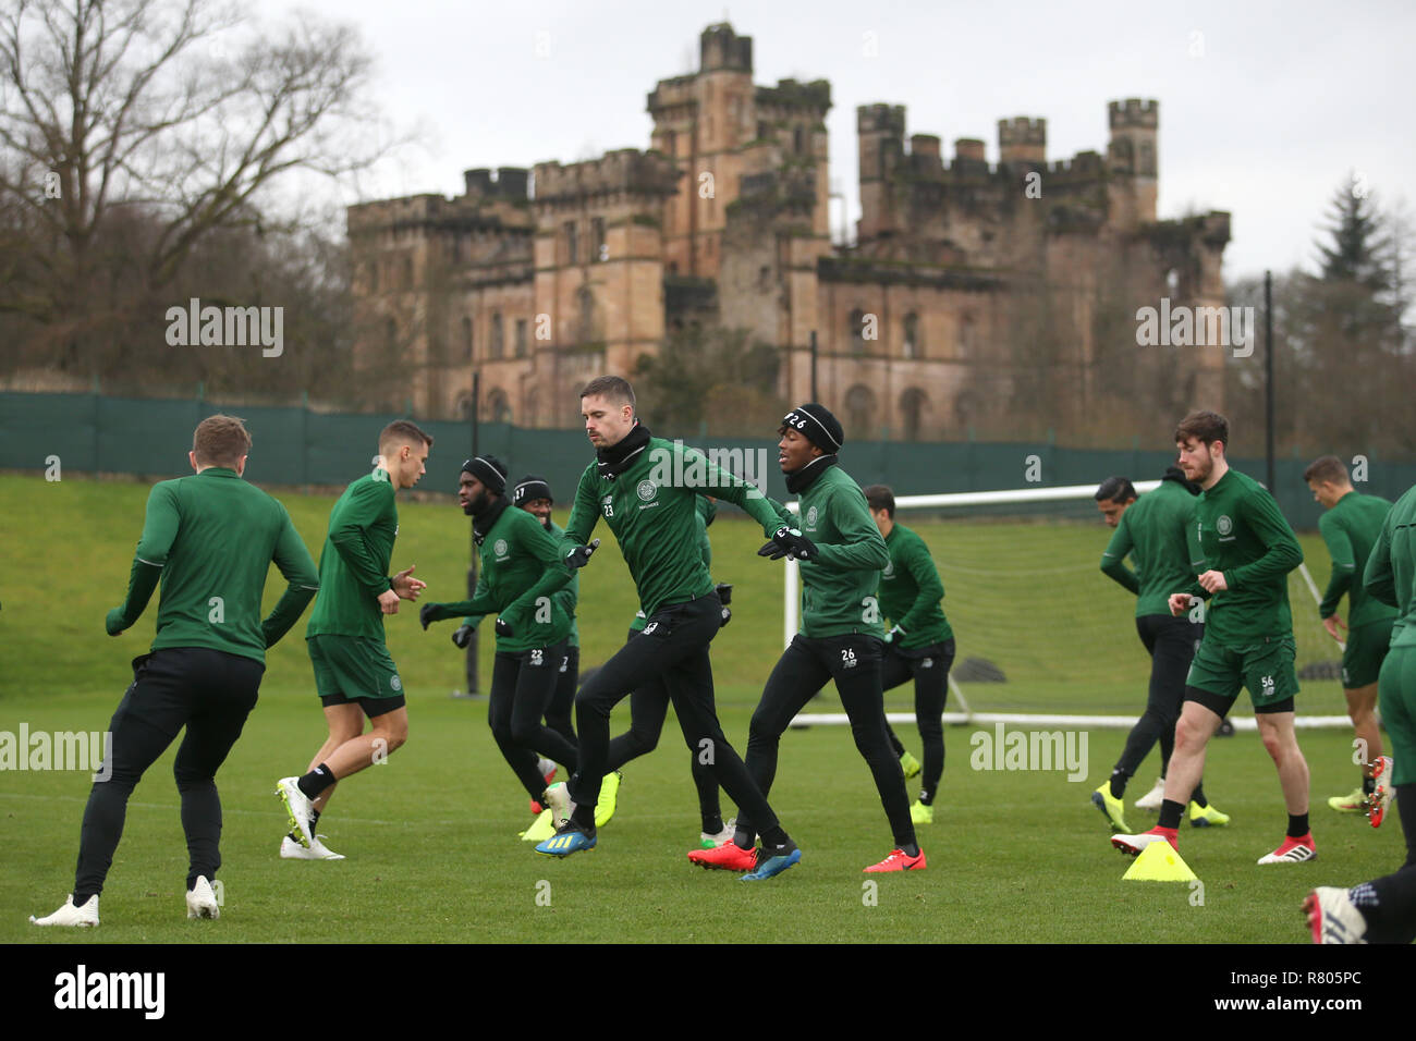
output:
[[1283, 843], [1260, 864], [1290, 864], [1317, 857], [1308, 827], [1308, 763], [1293, 728], [1293, 615], [1289, 572], [1303, 550], [1279, 504], [1259, 482], [1231, 469], [1229, 422], [1216, 412], [1191, 412], [1175, 428], [1180, 467], [1202, 489], [1191, 518], [1191, 569], [1205, 568], [1195, 584], [1170, 595], [1170, 613], [1187, 613], [1195, 598], [1209, 598], [1205, 639], [1185, 677], [1185, 704], [1175, 725], [1175, 752], [1165, 775], [1160, 823], [1140, 836], [1113, 836], [1112, 844], [1137, 854], [1151, 843], [1180, 848], [1185, 803], [1205, 762], [1205, 746], [1249, 688], [1263, 746], [1283, 787], [1289, 826]]

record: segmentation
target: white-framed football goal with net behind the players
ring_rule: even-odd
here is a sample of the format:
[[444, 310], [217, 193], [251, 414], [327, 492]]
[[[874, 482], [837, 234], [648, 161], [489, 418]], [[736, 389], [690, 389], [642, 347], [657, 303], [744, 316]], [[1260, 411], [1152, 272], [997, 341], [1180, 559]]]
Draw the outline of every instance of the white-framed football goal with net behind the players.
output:
[[[1137, 482], [1138, 493], [1160, 482]], [[896, 497], [895, 521], [919, 534], [944, 585], [954, 630], [947, 722], [1131, 727], [1146, 708], [1150, 656], [1136, 633], [1136, 596], [1102, 574], [1112, 528], [1096, 486]], [[793, 504], [794, 507], [794, 504]], [[1325, 561], [1317, 537], [1307, 559]], [[1318, 565], [1325, 575], [1323, 565]], [[1289, 575], [1297, 642], [1300, 727], [1349, 727], [1340, 646], [1318, 619], [1307, 565]], [[800, 572], [789, 562], [784, 635], [799, 627]], [[913, 721], [913, 687], [885, 693], [891, 722]], [[844, 714], [799, 717], [845, 722]], [[1238, 728], [1252, 728], [1247, 697]]]

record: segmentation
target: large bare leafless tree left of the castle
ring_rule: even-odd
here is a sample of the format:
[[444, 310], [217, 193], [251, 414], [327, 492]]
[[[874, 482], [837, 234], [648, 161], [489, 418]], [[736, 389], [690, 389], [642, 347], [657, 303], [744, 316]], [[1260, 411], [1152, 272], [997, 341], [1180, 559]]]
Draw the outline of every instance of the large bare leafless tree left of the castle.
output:
[[0, 215], [20, 248], [0, 313], [47, 327], [61, 367], [102, 367], [105, 333], [152, 312], [205, 237], [259, 229], [263, 191], [387, 152], [368, 71], [354, 30], [309, 18], [272, 38], [211, 0], [11, 0]]

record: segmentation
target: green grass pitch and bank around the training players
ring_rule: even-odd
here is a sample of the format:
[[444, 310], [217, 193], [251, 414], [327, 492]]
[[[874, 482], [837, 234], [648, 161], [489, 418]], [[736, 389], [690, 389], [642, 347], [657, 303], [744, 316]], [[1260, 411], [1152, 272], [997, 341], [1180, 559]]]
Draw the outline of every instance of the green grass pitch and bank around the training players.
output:
[[[152, 632], [152, 613], [120, 639], [102, 632], [103, 612], [125, 589], [144, 497], [146, 487], [130, 483], [0, 477], [4, 534], [11, 545], [27, 547], [0, 575], [0, 731], [17, 731], [21, 722], [31, 732], [106, 725], [129, 677], [127, 660], [146, 649]], [[282, 499], [317, 554], [331, 500]], [[395, 565], [416, 562], [430, 582], [429, 596], [463, 595], [467, 521], [460, 511], [447, 501], [406, 503], [401, 525]], [[1120, 591], [1113, 596], [1096, 571], [1104, 528], [1028, 527], [1038, 559], [1070, 567], [1080, 558], [1075, 582], [1039, 575], [1042, 601], [1032, 623], [1027, 605], [1000, 601], [988, 582], [970, 585], [963, 562], [950, 574], [950, 554], [977, 552], [969, 540], [981, 538], [976, 530], [986, 527], [1008, 541], [1004, 525], [918, 530], [944, 565], [961, 656], [986, 647], [1010, 674], [1010, 683], [993, 684], [1000, 691], [991, 697], [1007, 688], [1017, 701], [1063, 711], [1138, 711], [1146, 661], [1127, 598]], [[780, 650], [780, 568], [753, 555], [760, 533], [750, 524], [725, 517], [712, 535], [715, 576], [736, 585], [733, 622], [714, 643], [714, 667], [724, 727], [741, 749], [760, 683]], [[1018, 544], [1020, 531], [1011, 541]], [[1321, 547], [1304, 538], [1304, 550], [1314, 576], [1325, 581]], [[613, 538], [605, 538], [582, 582], [582, 643], [590, 663], [619, 644], [634, 609]], [[273, 602], [278, 584], [268, 592]], [[1296, 609], [1298, 603], [1294, 596]], [[1075, 625], [1052, 625], [1059, 613]], [[1182, 834], [1181, 850], [1204, 881], [1204, 904], [1195, 905], [1199, 894], [1185, 885], [1120, 881], [1129, 860], [1112, 851], [1102, 814], [1087, 802], [1124, 732], [1090, 731], [1089, 776], [1069, 783], [1061, 772], [970, 769], [977, 728], [949, 728], [936, 823], [920, 829], [929, 870], [879, 877], [877, 902], [867, 905], [861, 868], [888, 853], [889, 834], [848, 729], [817, 727], [783, 738], [772, 793], [804, 860], [772, 882], [741, 884], [685, 861], [698, 821], [687, 749], [670, 719], [660, 749], [630, 765], [620, 813], [602, 830], [600, 847], [568, 861], [541, 858], [515, 838], [530, 820], [525, 795], [491, 742], [484, 702], [447, 697], [462, 686], [462, 657], [446, 636], [450, 623], [422, 633], [405, 609], [388, 629], [409, 690], [411, 738], [387, 765], [343, 783], [321, 820], [329, 844], [348, 860], [276, 857], [283, 819], [275, 779], [303, 769], [324, 736], [297, 629], [273, 649], [261, 704], [218, 776], [225, 807], [221, 922], [184, 919], [174, 746], [133, 796], [103, 894], [103, 926], [84, 942], [544, 942], [552, 931], [571, 942], [1301, 942], [1298, 902], [1308, 888], [1386, 874], [1403, 857], [1395, 820], [1372, 831], [1362, 819], [1325, 806], [1328, 795], [1349, 790], [1355, 779], [1351, 735], [1342, 731], [1301, 736], [1320, 860], [1294, 867], [1255, 865], [1277, 844], [1284, 823], [1273, 766], [1256, 736], [1212, 745], [1206, 790], [1233, 824]], [[1027, 659], [1010, 659], [1014, 647], [1035, 660], [1051, 656], [1065, 683], [1049, 688], [1046, 676], [1029, 674]], [[1328, 652], [1300, 635], [1304, 653]], [[483, 666], [490, 666], [490, 644]], [[1127, 671], [1119, 678], [1114, 669]], [[1304, 684], [1304, 711], [1340, 711], [1311, 704], [1332, 700], [1324, 686], [1335, 687]], [[908, 693], [896, 691], [891, 701], [903, 708]], [[838, 711], [834, 693], [816, 707]], [[626, 711], [619, 710], [617, 724], [626, 724]], [[918, 755], [913, 728], [899, 729]], [[1148, 790], [1155, 763], [1151, 758], [1143, 766], [1131, 796]], [[25, 916], [62, 901], [86, 795], [85, 775], [0, 772], [7, 838], [0, 940], [76, 939], [68, 931], [33, 929]], [[1138, 829], [1151, 820], [1134, 810], [1127, 816]]]

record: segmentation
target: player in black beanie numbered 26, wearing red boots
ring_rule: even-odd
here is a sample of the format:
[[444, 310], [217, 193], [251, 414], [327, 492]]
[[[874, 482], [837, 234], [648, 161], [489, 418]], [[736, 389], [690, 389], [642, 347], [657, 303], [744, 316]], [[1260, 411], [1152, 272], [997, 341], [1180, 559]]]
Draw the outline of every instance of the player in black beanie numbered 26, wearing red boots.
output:
[[[777, 745], [793, 717], [817, 691], [835, 680], [841, 705], [851, 719], [855, 746], [871, 769], [895, 848], [867, 871], [918, 871], [926, 864], [915, 841], [915, 824], [905, 793], [905, 775], [885, 736], [881, 656], [885, 627], [875, 596], [889, 551], [871, 520], [865, 494], [838, 465], [845, 432], [817, 402], [800, 405], [777, 428], [777, 462], [787, 491], [800, 496], [793, 544], [775, 540], [759, 552], [773, 559], [792, 555], [801, 567], [801, 630], [777, 660], [752, 714], [748, 734], [748, 772], [767, 793], [777, 772]], [[756, 819], [738, 807], [733, 841], [690, 854], [691, 860], [731, 858], [750, 843]], [[716, 864], [715, 864], [716, 865]]]

